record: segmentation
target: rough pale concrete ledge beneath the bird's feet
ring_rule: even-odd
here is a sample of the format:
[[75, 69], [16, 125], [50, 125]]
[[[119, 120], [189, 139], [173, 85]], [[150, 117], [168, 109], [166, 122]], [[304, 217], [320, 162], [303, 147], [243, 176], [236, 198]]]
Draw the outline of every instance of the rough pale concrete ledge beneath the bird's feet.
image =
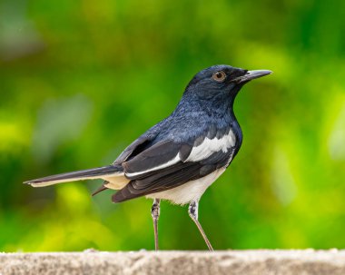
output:
[[0, 253], [0, 274], [344, 275], [345, 250]]

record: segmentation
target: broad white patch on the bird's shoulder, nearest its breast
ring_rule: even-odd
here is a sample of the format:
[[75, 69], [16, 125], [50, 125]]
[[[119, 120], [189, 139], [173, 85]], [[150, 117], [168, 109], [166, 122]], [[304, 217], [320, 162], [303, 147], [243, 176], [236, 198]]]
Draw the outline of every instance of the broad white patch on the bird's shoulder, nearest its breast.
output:
[[213, 152], [228, 152], [235, 145], [236, 137], [232, 130], [222, 136], [222, 138], [213, 138], [210, 140], [206, 137], [202, 144], [192, 148], [192, 152], [185, 162], [199, 162], [212, 155]]

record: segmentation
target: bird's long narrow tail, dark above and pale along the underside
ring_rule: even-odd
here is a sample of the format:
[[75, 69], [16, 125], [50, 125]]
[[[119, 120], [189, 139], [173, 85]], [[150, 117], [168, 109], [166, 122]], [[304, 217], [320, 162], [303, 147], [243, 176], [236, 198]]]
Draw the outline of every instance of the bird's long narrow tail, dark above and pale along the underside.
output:
[[65, 172], [53, 176], [48, 176], [32, 181], [24, 182], [34, 187], [43, 187], [61, 182], [74, 182], [92, 179], [104, 179], [123, 173], [121, 166], [109, 165], [100, 168], [81, 170], [76, 172]]

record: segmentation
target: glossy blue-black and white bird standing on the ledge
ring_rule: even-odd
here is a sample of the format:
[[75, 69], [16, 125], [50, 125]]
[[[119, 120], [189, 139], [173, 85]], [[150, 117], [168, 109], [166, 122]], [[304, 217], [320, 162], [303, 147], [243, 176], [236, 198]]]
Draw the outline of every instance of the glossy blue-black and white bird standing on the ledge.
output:
[[236, 95], [245, 83], [271, 73], [226, 64], [203, 69], [187, 84], [173, 113], [140, 135], [111, 165], [24, 183], [44, 187], [102, 179], [102, 186], [93, 195], [112, 189], [117, 191], [112, 196], [116, 203], [142, 196], [153, 199], [155, 250], [159, 250], [161, 201], [189, 204], [189, 216], [208, 249], [213, 250], [198, 218], [199, 201], [242, 145], [242, 129], [233, 112]]

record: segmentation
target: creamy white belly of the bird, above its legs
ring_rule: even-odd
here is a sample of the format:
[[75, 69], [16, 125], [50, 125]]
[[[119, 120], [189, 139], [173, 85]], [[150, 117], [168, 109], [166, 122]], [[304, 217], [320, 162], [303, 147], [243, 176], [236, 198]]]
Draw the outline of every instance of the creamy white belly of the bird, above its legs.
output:
[[173, 189], [149, 194], [146, 198], [162, 199], [172, 201], [176, 204], [186, 204], [191, 201], [199, 201], [203, 192], [225, 171], [225, 168], [218, 169], [207, 176], [195, 181], [186, 182]]

